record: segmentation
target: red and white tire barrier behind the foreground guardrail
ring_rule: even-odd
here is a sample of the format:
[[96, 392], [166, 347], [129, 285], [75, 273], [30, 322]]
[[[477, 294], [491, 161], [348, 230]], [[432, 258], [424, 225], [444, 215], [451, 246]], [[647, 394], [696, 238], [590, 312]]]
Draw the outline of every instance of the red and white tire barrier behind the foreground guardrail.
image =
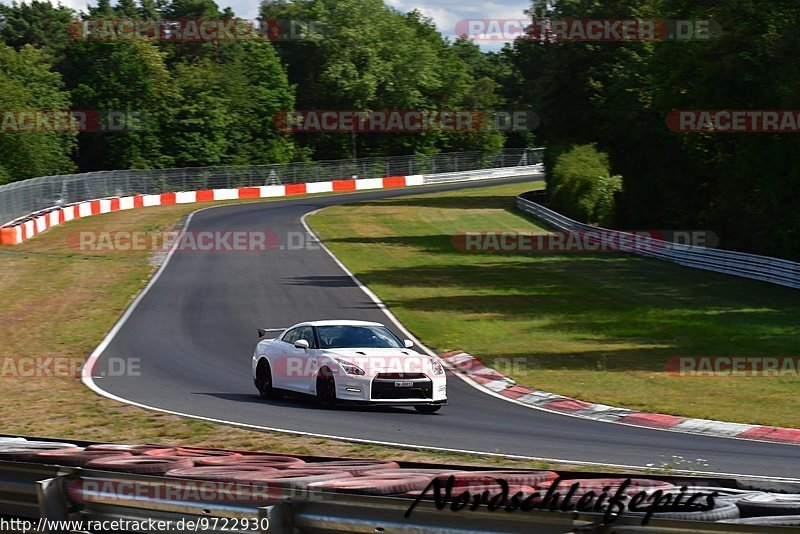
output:
[[[434, 481], [438, 481], [440, 490], [452, 484], [449, 491], [456, 498], [463, 500], [464, 495], [468, 494], [468, 502], [464, 501], [462, 504], [479, 506], [491, 501], [497, 505], [498, 499], [504, 499], [504, 506], [514, 507], [528, 498], [535, 502], [535, 499], [541, 499], [548, 490], [559, 493], [563, 499], [571, 491], [571, 486], [578, 484], [571, 491], [572, 502], [587, 495], [596, 498], [598, 503], [605, 499], [605, 503], [595, 509], [596, 512], [605, 513], [609, 498], [600, 496], [603, 493], [614, 495], [624, 484], [624, 494], [628, 498], [626, 504], [633, 500], [634, 495], [645, 492], [646, 498], [660, 495], [659, 499], [666, 499], [661, 501], [662, 510], [669, 509], [670, 503], [677, 502], [680, 495], [716, 493], [713, 508], [709, 510], [674, 508], [675, 511], [648, 512], [643, 511], [645, 508], [633, 511], [626, 507], [624, 515], [642, 518], [642, 521], [663, 519], [756, 526], [800, 526], [800, 492], [782, 494], [695, 485], [690, 478], [684, 479], [687, 483], [682, 485], [682, 482], [673, 483], [674, 480], [681, 480], [674, 477], [666, 480], [624, 475], [578, 478], [575, 475], [569, 477], [567, 472], [559, 475], [555, 471], [541, 470], [464, 470], [458, 466], [404, 468], [398, 462], [388, 460], [298, 458], [270, 452], [247, 453], [136, 444], [94, 444], [79, 447], [73, 443], [29, 441], [11, 437], [0, 438], [0, 463], [3, 461], [165, 476], [168, 478], [162, 481], [143, 480], [134, 481], [134, 484], [141, 486], [137, 489], [143, 492], [144, 498], [149, 498], [150, 495], [156, 498], [155, 496], [162, 495], [158, 493], [161, 491], [158, 488], [168, 488], [172, 494], [206, 495], [210, 492], [212, 496], [207, 497], [211, 499], [210, 502], [216, 502], [213, 499], [219, 502], [229, 502], [232, 499], [233, 502], [246, 502], [255, 506], [274, 499], [308, 496], [308, 492], [388, 496], [407, 499], [409, 502], [431, 501], [437, 491]], [[102, 477], [97, 476], [92, 474], [87, 479], [88, 482], [79, 480], [75, 483], [77, 485], [70, 490], [73, 502], [91, 502], [93, 496], [99, 495], [97, 488], [92, 485], [97, 484], [93, 481], [102, 480]], [[554, 486], [556, 480], [558, 485]], [[115, 488], [120, 491], [127, 488], [121, 483], [119, 487], [114, 486], [114, 483], [111, 482], [112, 492]], [[125, 483], [130, 485], [130, 482]], [[228, 484], [233, 486], [228, 488]], [[207, 493], [198, 493], [202, 491]], [[124, 499], [124, 492], [120, 496]], [[100, 498], [102, 500], [105, 497], [100, 495]], [[687, 499], [685, 497], [683, 501]], [[706, 502], [712, 503], [704, 500], [702, 503], [698, 501], [698, 504]]]

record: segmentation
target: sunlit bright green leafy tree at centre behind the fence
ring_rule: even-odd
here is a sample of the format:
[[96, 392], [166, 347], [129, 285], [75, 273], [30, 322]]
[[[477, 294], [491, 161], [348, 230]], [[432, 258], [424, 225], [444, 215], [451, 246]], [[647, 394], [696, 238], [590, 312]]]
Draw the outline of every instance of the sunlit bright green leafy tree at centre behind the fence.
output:
[[[298, 109], [449, 111], [494, 103], [492, 81], [476, 84], [458, 50], [418, 12], [403, 14], [381, 0], [298, 0], [262, 2], [260, 13], [321, 28], [313, 39], [275, 43], [297, 86]], [[502, 146], [502, 135], [492, 130], [297, 137], [321, 159]]]

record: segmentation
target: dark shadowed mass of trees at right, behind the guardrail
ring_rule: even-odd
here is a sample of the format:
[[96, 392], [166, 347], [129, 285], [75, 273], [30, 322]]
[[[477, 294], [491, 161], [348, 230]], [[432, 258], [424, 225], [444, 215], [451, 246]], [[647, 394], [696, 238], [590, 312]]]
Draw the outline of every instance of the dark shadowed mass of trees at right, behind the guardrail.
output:
[[665, 124], [672, 110], [797, 109], [800, 6], [556, 0], [552, 8], [556, 18], [708, 20], [721, 28], [691, 41], [520, 39], [500, 55], [519, 73], [504, 95], [541, 113], [537, 137], [548, 146], [596, 143], [608, 153], [625, 177], [621, 224], [709, 228], [727, 248], [800, 258], [795, 136], [682, 133]]

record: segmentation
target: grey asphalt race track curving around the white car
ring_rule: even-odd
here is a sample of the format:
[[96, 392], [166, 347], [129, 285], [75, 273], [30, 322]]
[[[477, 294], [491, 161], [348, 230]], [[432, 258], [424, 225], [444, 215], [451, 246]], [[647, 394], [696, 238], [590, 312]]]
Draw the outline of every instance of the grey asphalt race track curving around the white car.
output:
[[[325, 206], [511, 181], [521, 180], [230, 205], [196, 212], [188, 230], [286, 235], [304, 232], [301, 217]], [[330, 437], [636, 466], [673, 463], [678, 455], [707, 460], [705, 468], [684, 465], [695, 471], [800, 478], [797, 446], [544, 412], [492, 397], [455, 377], [448, 383], [450, 405], [434, 415], [413, 409], [329, 411], [312, 400], [261, 399], [250, 370], [256, 329], [331, 318], [388, 322], [324, 250], [178, 252], [100, 355], [99, 369], [106, 368], [106, 358], [140, 358], [141, 376], [105, 376], [95, 383], [152, 408]]]

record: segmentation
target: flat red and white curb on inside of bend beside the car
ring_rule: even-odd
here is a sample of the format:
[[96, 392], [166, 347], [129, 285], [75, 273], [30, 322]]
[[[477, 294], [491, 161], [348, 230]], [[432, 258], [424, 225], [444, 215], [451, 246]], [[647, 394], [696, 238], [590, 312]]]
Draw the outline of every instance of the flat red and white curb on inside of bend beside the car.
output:
[[439, 357], [447, 362], [456, 374], [479, 387], [516, 402], [545, 410], [610, 423], [800, 445], [800, 430], [795, 428], [727, 423], [661, 413], [637, 412], [627, 408], [595, 404], [517, 385], [508, 376], [487, 367], [466, 352], [446, 352]]

